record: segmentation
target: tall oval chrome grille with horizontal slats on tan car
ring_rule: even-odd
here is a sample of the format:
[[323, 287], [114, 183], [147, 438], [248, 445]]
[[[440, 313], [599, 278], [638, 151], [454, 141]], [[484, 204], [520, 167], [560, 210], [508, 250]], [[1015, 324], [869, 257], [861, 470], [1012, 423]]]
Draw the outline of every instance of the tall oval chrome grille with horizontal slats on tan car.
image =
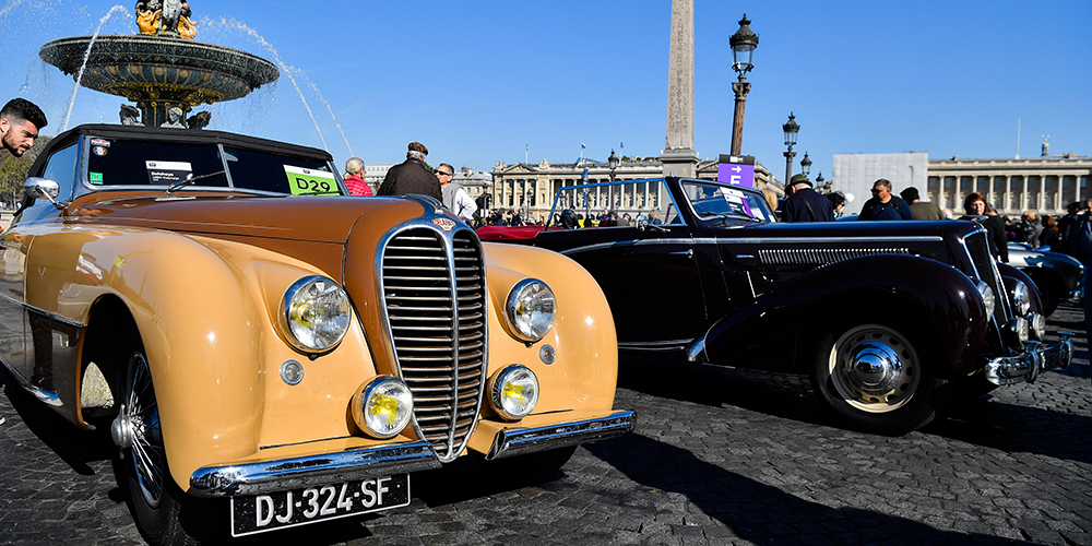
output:
[[414, 396], [416, 430], [441, 461], [459, 456], [485, 390], [486, 296], [480, 246], [411, 228], [383, 249], [382, 286], [399, 372]]

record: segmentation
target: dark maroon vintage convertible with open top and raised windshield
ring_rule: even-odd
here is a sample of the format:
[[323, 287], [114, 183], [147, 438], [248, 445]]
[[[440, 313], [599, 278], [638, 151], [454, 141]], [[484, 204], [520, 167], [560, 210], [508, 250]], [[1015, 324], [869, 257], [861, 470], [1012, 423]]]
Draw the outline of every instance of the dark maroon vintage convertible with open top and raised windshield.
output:
[[[636, 219], [573, 227], [604, 209]], [[759, 191], [673, 177], [565, 187], [550, 218], [478, 235], [583, 265], [619, 351], [808, 373], [854, 428], [910, 431], [952, 393], [1072, 358], [1068, 335], [1044, 341], [1034, 283], [996, 263], [971, 222], [779, 223]]]

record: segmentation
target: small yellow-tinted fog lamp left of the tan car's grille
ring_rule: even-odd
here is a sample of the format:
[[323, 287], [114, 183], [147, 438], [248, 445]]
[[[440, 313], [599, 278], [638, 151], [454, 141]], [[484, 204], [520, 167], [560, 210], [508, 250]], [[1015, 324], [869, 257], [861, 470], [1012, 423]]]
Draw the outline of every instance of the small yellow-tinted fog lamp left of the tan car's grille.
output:
[[378, 439], [399, 435], [413, 416], [413, 393], [394, 376], [378, 376], [353, 395], [353, 420]]

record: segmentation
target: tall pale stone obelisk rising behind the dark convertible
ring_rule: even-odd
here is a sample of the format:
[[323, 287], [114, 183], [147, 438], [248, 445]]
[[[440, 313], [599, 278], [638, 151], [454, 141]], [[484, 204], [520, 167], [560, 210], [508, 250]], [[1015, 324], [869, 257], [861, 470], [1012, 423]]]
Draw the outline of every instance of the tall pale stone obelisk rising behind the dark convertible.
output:
[[693, 0], [672, 0], [672, 51], [667, 67], [667, 144], [664, 175], [696, 177], [693, 151]]

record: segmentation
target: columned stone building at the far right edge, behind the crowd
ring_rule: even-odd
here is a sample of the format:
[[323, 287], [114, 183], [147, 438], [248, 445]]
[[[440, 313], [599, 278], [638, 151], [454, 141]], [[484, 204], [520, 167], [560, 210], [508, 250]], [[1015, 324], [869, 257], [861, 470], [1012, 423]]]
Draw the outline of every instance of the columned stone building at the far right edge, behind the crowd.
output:
[[[1044, 150], [1045, 151], [1045, 150]], [[941, 209], [963, 211], [963, 198], [982, 193], [1002, 214], [1023, 211], [1064, 214], [1066, 205], [1092, 199], [1089, 177], [1092, 157], [1087, 155], [1043, 155], [1030, 158], [929, 161], [929, 181], [923, 199]]]

